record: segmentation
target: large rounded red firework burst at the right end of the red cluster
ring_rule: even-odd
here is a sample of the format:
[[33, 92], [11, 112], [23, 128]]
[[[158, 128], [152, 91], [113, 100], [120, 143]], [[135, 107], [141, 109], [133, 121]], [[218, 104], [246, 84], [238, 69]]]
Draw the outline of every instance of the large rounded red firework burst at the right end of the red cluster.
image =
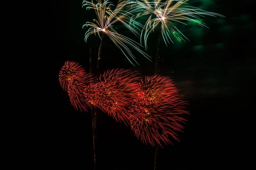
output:
[[179, 141], [177, 132], [182, 131], [181, 123], [186, 121], [181, 116], [188, 113], [185, 104], [169, 77], [145, 77], [131, 107], [131, 129], [145, 144], [169, 144], [170, 136]]

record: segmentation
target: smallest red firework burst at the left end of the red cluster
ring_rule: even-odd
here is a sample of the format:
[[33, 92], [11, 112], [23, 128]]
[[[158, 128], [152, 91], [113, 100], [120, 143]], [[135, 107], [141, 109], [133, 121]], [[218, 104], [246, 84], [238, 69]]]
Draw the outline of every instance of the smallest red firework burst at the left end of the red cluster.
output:
[[68, 92], [70, 102], [76, 110], [87, 111], [92, 105], [84, 97], [84, 88], [96, 82], [93, 74], [86, 73], [76, 62], [65, 62], [59, 74], [61, 87]]

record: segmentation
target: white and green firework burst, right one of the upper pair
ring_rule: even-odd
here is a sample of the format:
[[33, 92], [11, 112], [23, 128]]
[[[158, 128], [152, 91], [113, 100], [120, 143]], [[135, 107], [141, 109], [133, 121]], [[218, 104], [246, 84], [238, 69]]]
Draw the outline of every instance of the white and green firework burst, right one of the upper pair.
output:
[[[137, 17], [143, 15], [149, 16], [144, 28], [142, 29], [140, 37], [141, 44], [144, 43], [145, 48], [147, 48], [148, 35], [151, 31], [154, 31], [158, 25], [161, 27], [161, 34], [167, 45], [170, 44], [170, 42], [173, 43], [171, 34], [180, 42], [188, 40], [173, 24], [175, 22], [183, 23], [183, 21], [188, 20], [198, 23], [200, 26], [207, 27], [205, 23], [201, 22], [201, 17], [204, 17], [205, 15], [224, 17], [220, 14], [187, 6], [187, 1], [188, 0], [140, 0], [130, 3], [129, 12], [134, 14], [134, 17], [130, 20], [130, 24], [134, 23], [134, 20]], [[136, 22], [136, 24], [138, 23]], [[183, 24], [186, 25], [186, 23]]]

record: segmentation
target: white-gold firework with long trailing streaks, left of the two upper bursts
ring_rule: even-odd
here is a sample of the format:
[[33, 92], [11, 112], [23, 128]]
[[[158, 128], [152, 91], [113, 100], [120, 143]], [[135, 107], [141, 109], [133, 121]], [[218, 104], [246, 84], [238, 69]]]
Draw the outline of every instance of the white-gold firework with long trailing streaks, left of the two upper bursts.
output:
[[128, 22], [131, 20], [131, 17], [129, 17], [130, 13], [125, 11], [125, 6], [129, 3], [129, 0], [119, 1], [114, 10], [111, 10], [113, 4], [110, 3], [108, 0], [106, 0], [104, 3], [102, 3], [101, 1], [96, 2], [97, 3], [93, 3], [93, 1], [83, 1], [83, 6], [87, 6], [87, 9], [94, 9], [98, 18], [98, 20], [93, 20], [93, 22], [87, 22], [84, 25], [90, 27], [85, 33], [85, 42], [87, 42], [87, 38], [91, 34], [98, 34], [100, 38], [100, 34], [106, 34], [113, 41], [113, 43], [122, 51], [122, 53], [129, 60], [129, 62], [131, 62], [131, 64], [134, 65], [133, 61], [136, 62], [136, 58], [134, 54], [132, 54], [130, 47], [140, 52], [140, 54], [142, 54], [147, 59], [151, 58], [140, 49], [141, 45], [139, 43], [131, 40], [128, 37], [125, 37], [124, 35], [117, 33], [116, 30], [113, 28], [113, 24], [119, 21], [127, 28], [129, 28], [133, 33], [139, 34], [134, 28], [132, 28], [128, 24]]

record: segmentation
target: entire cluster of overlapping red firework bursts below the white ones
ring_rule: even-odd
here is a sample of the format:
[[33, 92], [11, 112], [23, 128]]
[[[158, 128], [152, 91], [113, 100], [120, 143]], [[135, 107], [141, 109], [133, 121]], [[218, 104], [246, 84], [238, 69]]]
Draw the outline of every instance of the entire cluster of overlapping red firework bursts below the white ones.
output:
[[76, 110], [100, 108], [117, 122], [131, 125], [145, 144], [169, 144], [179, 141], [186, 119], [185, 101], [169, 77], [160, 75], [142, 79], [137, 72], [113, 69], [99, 79], [88, 74], [76, 62], [65, 62], [60, 71], [61, 87], [68, 92]]

